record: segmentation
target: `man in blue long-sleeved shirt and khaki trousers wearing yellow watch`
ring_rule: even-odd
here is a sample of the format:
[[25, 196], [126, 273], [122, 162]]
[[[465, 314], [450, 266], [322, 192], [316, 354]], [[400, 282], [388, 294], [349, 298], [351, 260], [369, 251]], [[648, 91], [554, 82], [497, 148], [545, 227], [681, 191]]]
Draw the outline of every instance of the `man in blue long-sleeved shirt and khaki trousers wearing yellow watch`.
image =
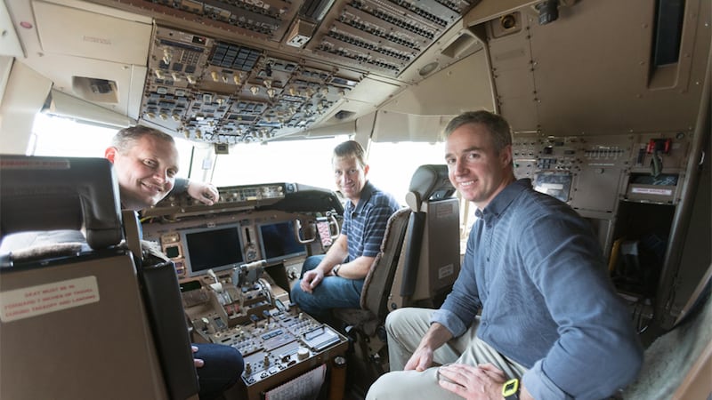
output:
[[477, 220], [441, 308], [388, 316], [392, 372], [367, 399], [611, 396], [635, 379], [643, 350], [591, 227], [514, 178], [501, 116], [467, 112], [445, 136], [449, 180]]

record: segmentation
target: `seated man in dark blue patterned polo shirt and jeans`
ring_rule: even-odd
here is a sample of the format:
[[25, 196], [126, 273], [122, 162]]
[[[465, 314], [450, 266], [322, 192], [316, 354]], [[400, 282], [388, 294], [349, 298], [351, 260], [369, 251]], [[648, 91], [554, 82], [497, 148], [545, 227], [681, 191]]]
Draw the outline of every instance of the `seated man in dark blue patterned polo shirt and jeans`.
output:
[[359, 308], [363, 280], [384, 239], [385, 225], [401, 205], [367, 180], [361, 145], [348, 140], [334, 148], [336, 186], [348, 200], [341, 234], [326, 254], [304, 260], [302, 280], [291, 300], [317, 319], [331, 308]]

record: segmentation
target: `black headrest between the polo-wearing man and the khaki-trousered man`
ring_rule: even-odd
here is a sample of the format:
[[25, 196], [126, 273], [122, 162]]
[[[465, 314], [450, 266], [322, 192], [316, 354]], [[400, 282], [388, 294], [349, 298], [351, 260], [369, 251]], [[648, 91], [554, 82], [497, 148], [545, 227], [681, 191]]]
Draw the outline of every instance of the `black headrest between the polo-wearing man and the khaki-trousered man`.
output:
[[[451, 197], [455, 188], [448, 178], [448, 166], [445, 164], [427, 164], [417, 167], [410, 179], [406, 203], [417, 212], [424, 201], [438, 201]], [[412, 204], [411, 204], [412, 203]]]

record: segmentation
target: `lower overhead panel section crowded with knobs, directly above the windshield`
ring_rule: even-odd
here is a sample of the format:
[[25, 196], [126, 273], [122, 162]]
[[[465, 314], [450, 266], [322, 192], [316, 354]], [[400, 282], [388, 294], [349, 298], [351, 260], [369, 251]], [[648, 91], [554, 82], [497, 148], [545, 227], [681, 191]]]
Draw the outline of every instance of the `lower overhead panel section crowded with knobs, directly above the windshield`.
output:
[[158, 27], [142, 119], [190, 140], [270, 140], [311, 126], [358, 83], [247, 45]]

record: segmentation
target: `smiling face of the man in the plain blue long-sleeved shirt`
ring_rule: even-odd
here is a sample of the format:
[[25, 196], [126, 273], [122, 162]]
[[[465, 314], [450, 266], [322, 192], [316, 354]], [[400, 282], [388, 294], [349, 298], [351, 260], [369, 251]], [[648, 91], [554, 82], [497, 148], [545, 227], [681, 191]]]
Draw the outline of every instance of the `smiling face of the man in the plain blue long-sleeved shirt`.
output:
[[514, 181], [512, 146], [497, 151], [484, 124], [463, 124], [451, 132], [445, 162], [452, 185], [481, 210]]

